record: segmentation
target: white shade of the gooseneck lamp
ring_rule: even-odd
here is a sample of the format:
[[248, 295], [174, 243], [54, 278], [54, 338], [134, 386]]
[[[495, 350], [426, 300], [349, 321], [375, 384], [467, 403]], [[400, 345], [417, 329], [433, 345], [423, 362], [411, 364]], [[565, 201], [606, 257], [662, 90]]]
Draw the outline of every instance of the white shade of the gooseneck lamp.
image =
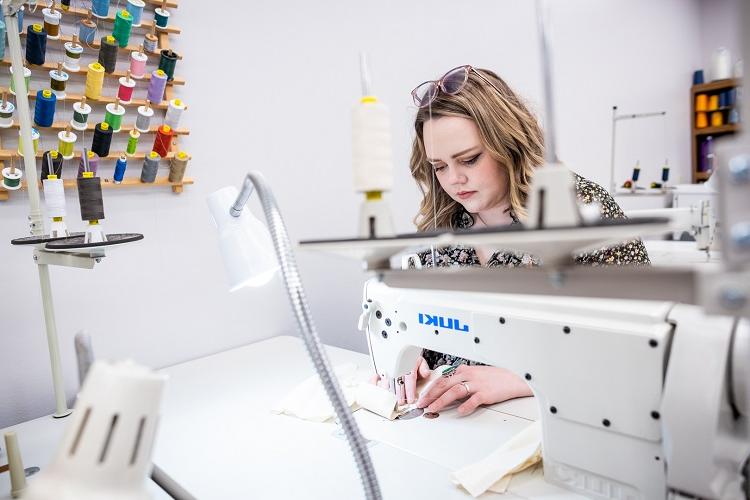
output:
[[219, 231], [219, 248], [231, 291], [265, 285], [279, 269], [266, 226], [247, 207], [239, 217], [229, 213], [237, 195], [237, 189], [229, 186], [210, 194], [207, 200]]

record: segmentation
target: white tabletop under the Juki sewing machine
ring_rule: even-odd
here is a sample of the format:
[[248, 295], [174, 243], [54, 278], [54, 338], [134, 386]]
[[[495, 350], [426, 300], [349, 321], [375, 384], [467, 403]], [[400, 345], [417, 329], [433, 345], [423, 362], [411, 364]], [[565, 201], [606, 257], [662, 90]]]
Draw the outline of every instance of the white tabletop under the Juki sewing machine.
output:
[[[369, 367], [365, 354], [328, 347], [333, 366]], [[154, 463], [201, 500], [235, 498], [362, 498], [348, 444], [333, 423], [314, 423], [270, 411], [313, 374], [302, 341], [275, 337], [161, 370], [169, 375]], [[471, 496], [451, 472], [479, 460], [537, 418], [533, 398], [480, 408], [468, 417], [446, 410], [434, 420], [388, 421], [355, 413], [369, 447], [383, 498], [457, 499]], [[44, 468], [69, 419], [25, 422], [16, 430], [24, 466]], [[0, 461], [4, 459], [0, 454]], [[4, 461], [3, 461], [4, 463]], [[29, 478], [33, 481], [34, 478]], [[153, 482], [154, 498], [169, 498]], [[7, 473], [0, 500], [9, 499]], [[546, 483], [541, 468], [514, 479], [509, 493], [481, 498], [583, 497]]]

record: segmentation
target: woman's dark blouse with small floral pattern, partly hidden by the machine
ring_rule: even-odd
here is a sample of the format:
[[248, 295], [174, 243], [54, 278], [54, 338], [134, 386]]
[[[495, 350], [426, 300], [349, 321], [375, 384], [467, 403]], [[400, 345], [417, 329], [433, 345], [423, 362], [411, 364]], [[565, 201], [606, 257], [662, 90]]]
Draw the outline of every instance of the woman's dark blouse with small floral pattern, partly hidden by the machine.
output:
[[[576, 197], [579, 203], [598, 203], [601, 207], [603, 219], [624, 219], [625, 214], [617, 205], [612, 196], [600, 185], [575, 174]], [[511, 212], [513, 222], [520, 224], [518, 218]], [[474, 218], [465, 210], [457, 212], [454, 216], [454, 225], [458, 229], [468, 229], [474, 224]], [[420, 252], [419, 259], [424, 267], [432, 267], [432, 251]], [[481, 266], [479, 257], [471, 247], [453, 246], [435, 249], [435, 260], [438, 266]], [[622, 244], [601, 248], [599, 250], [580, 254], [575, 257], [578, 264], [603, 266], [603, 265], [649, 265], [651, 261], [646, 253], [646, 247], [639, 239], [625, 241]], [[534, 267], [539, 265], [539, 260], [533, 255], [525, 253], [495, 252], [487, 260], [487, 267]], [[423, 356], [430, 368], [440, 365], [454, 363], [465, 363], [469, 365], [481, 364], [470, 360], [460, 359], [456, 356], [443, 354], [435, 351], [425, 350]]]

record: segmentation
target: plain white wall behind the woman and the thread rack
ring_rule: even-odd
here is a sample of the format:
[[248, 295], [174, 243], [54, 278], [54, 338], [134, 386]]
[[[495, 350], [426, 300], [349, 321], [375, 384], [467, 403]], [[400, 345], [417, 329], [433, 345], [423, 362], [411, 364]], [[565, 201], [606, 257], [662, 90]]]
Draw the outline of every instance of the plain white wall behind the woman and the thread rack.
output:
[[[624, 112], [664, 109], [667, 121], [651, 125], [659, 134], [623, 127], [620, 176], [627, 176], [632, 158], [644, 163], [666, 154], [686, 179], [697, 4], [552, 4], [560, 157], [606, 184], [611, 106]], [[471, 63], [499, 72], [539, 109], [533, 2], [182, 0], [174, 22], [183, 28], [175, 43], [184, 53], [177, 73], [188, 82], [180, 90], [192, 129], [184, 144], [193, 156], [189, 175], [197, 182], [180, 196], [108, 191], [109, 228], [140, 231], [146, 239], [112, 250], [93, 271], [53, 270], [70, 395], [78, 329], [94, 335], [101, 357], [132, 357], [155, 367], [295, 331], [278, 281], [259, 291], [225, 291], [204, 197], [223, 185], [239, 185], [245, 171], [257, 169], [273, 187], [295, 241], [353, 235], [361, 198], [351, 187], [349, 113], [360, 92], [359, 50], [369, 52], [376, 93], [392, 110], [396, 188], [388, 197], [402, 232], [412, 230], [419, 201], [408, 174], [412, 87]], [[68, 201], [76, 215], [76, 200]], [[252, 203], [257, 212], [257, 201]], [[25, 196], [0, 205], [0, 214], [4, 240], [26, 232]], [[53, 406], [30, 252], [3, 245], [0, 258], [3, 427]], [[324, 341], [364, 350], [355, 331], [366, 277], [359, 263], [304, 253], [298, 259]]]

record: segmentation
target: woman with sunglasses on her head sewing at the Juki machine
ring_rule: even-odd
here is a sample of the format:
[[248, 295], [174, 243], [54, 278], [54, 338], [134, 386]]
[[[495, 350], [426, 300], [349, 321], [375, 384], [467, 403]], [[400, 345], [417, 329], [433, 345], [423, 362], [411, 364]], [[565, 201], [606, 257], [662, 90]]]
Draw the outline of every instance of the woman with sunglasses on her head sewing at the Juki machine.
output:
[[[520, 224], [536, 167], [544, 163], [542, 132], [522, 100], [495, 73], [460, 66], [412, 91], [419, 107], [411, 173], [424, 195], [415, 217], [420, 231]], [[599, 185], [575, 175], [580, 203], [597, 203], [603, 218], [624, 218]], [[489, 248], [449, 247], [420, 255], [423, 266], [535, 266], [532, 255]], [[434, 259], [434, 262], [433, 262]], [[640, 240], [576, 257], [589, 265], [648, 265]], [[415, 385], [432, 368], [458, 366], [422, 394], [417, 406], [439, 412], [456, 401], [461, 415], [479, 405], [531, 396], [520, 377], [499, 367], [425, 351], [406, 376], [401, 402], [414, 402]]]

